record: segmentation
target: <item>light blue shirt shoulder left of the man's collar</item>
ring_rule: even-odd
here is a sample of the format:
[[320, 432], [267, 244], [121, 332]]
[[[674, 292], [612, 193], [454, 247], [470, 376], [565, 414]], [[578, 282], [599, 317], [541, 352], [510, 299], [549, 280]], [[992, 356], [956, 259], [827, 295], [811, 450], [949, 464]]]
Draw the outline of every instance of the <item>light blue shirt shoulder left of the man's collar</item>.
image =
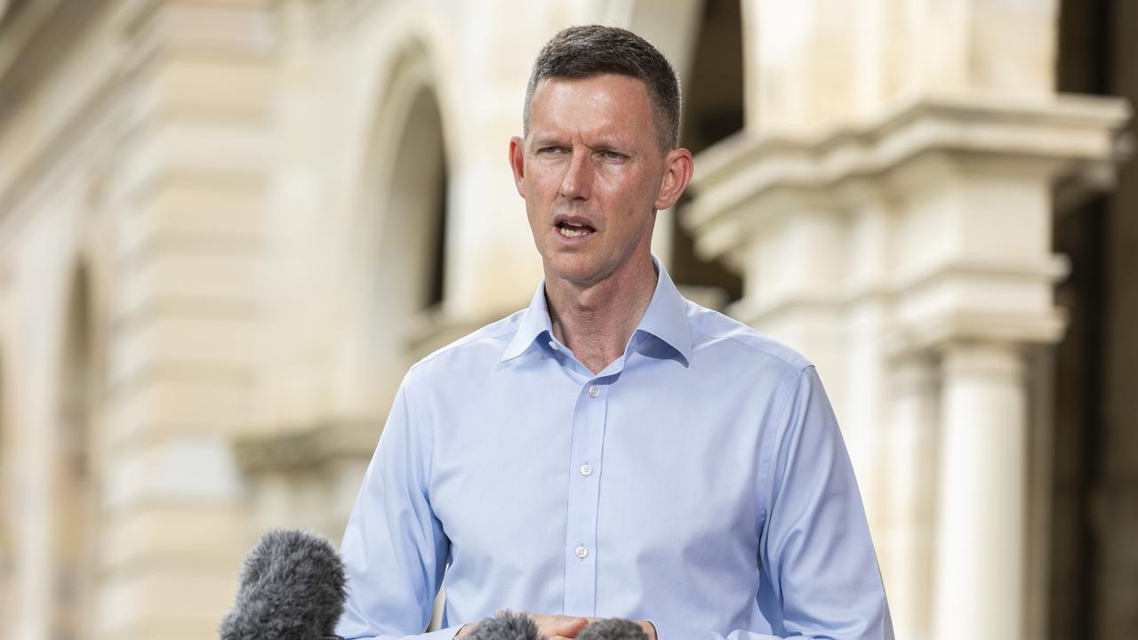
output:
[[440, 381], [495, 366], [525, 313], [525, 310], [511, 313], [436, 350], [411, 366], [405, 384]]

